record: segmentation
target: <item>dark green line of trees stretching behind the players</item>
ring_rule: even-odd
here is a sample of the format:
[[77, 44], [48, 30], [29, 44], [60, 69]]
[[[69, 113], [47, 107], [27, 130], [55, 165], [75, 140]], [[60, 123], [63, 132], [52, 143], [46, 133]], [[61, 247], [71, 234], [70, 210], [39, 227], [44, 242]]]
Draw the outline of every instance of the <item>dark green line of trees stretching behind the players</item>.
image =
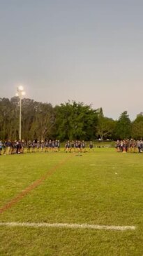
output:
[[[0, 98], [0, 139], [18, 140], [20, 99]], [[123, 140], [143, 138], [143, 114], [130, 121], [128, 112], [118, 120], [104, 116], [103, 109], [93, 109], [83, 102], [50, 103], [22, 100], [22, 139], [28, 140]]]

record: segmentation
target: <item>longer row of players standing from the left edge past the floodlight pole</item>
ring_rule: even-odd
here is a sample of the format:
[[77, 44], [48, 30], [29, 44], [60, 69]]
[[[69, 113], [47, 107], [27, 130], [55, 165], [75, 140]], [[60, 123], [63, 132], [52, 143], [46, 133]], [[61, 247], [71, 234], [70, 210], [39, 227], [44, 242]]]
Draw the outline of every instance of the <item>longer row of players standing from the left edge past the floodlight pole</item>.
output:
[[[89, 150], [93, 149], [93, 142], [89, 143]], [[29, 140], [27, 143], [24, 140], [15, 140], [2, 142], [0, 140], [0, 155], [8, 154], [22, 154], [22, 153], [34, 153], [34, 152], [59, 152], [60, 151], [60, 142], [59, 140]], [[84, 140], [70, 141], [68, 140], [65, 144], [64, 151], [67, 152], [85, 152], [86, 144]]]

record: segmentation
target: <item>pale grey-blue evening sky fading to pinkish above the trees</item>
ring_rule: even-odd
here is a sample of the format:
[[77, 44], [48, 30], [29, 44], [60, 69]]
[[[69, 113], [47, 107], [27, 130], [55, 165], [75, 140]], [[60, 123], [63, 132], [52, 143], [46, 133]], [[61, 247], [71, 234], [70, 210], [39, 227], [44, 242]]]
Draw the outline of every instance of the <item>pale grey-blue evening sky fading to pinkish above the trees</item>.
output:
[[0, 0], [0, 97], [143, 112], [142, 0]]

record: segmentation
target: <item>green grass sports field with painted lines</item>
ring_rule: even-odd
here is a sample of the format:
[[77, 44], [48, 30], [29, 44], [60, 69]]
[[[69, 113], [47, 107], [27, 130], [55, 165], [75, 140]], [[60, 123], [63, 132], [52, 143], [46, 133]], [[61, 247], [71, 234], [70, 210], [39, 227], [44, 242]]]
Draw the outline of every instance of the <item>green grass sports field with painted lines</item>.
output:
[[0, 255], [142, 256], [143, 154], [0, 156], [0, 222], [135, 226], [135, 230], [0, 226]]

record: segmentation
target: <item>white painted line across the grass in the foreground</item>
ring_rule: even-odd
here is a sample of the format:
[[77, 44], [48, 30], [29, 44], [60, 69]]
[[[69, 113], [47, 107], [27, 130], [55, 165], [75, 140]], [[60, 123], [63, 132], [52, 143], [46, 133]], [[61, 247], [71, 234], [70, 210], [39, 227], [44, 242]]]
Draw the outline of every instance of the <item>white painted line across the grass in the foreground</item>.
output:
[[68, 224], [68, 223], [30, 223], [30, 222], [0, 222], [4, 227], [61, 227], [68, 229], [105, 229], [105, 230], [135, 230], [135, 226], [105, 226], [93, 224]]

